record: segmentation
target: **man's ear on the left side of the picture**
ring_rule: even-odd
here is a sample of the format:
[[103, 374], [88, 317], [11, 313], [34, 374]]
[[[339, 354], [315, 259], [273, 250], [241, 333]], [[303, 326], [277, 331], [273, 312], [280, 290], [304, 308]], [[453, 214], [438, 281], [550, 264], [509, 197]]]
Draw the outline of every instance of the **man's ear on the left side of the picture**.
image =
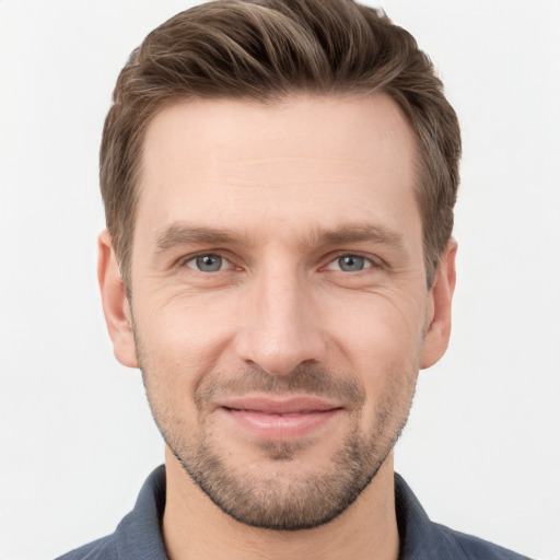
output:
[[122, 277], [113, 248], [113, 240], [107, 230], [97, 238], [97, 279], [101, 288], [105, 323], [113, 340], [115, 357], [122, 365], [138, 368], [132, 314], [122, 283]]

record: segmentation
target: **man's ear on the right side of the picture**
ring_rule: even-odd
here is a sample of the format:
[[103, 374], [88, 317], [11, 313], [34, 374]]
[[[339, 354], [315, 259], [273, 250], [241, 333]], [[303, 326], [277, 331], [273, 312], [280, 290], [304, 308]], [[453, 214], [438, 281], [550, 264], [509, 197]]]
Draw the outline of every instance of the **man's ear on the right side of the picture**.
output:
[[451, 240], [442, 254], [429, 294], [427, 328], [420, 354], [422, 370], [432, 366], [447, 350], [451, 336], [451, 304], [456, 280], [456, 254], [457, 243]]

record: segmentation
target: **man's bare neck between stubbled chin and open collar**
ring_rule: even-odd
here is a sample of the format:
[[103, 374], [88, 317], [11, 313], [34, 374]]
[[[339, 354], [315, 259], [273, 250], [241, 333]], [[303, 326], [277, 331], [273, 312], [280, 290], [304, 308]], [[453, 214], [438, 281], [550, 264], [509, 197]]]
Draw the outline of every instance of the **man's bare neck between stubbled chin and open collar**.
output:
[[331, 522], [303, 530], [250, 527], [223, 513], [166, 450], [167, 494], [162, 522], [171, 560], [396, 560], [393, 454], [358, 500]]

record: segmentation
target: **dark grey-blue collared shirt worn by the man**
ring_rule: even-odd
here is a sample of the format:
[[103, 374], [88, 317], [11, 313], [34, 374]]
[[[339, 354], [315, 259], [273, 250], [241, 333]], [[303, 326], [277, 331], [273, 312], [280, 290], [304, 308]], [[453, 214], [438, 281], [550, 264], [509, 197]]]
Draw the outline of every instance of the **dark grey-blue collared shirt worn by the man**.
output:
[[[395, 475], [395, 502], [399, 560], [527, 560], [478, 537], [432, 523], [399, 475]], [[161, 533], [164, 508], [165, 469], [160, 466], [148, 477], [135, 509], [113, 535], [57, 560], [168, 560]]]

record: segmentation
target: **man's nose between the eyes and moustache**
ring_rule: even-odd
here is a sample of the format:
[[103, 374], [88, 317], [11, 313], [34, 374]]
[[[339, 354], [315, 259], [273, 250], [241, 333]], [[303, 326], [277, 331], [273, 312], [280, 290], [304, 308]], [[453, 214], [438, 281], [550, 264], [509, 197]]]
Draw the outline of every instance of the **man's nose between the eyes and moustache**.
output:
[[326, 343], [317, 302], [296, 273], [262, 271], [243, 302], [237, 357], [271, 375], [323, 361]]

